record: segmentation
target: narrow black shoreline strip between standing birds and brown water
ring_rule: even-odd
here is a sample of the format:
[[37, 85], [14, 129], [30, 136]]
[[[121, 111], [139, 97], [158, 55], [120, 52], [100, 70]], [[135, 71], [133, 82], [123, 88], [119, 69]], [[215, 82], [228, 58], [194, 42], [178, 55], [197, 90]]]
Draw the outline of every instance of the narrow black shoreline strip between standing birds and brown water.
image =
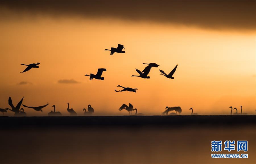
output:
[[0, 128], [256, 125], [256, 115], [0, 117]]

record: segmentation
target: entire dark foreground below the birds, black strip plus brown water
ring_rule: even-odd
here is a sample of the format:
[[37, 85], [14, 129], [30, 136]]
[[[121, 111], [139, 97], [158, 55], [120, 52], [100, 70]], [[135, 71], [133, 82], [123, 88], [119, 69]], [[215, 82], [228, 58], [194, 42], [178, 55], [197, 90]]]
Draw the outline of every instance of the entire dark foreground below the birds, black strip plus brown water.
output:
[[[256, 116], [0, 117], [0, 163], [256, 163]], [[248, 140], [248, 159], [212, 159]], [[224, 151], [224, 143], [221, 153]]]

